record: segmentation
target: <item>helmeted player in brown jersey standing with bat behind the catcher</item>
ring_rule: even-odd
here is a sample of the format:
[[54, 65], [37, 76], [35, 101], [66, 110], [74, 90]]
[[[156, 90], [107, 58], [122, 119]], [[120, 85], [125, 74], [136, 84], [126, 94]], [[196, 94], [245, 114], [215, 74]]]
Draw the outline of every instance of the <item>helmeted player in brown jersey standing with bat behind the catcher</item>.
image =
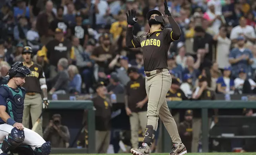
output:
[[[27, 93], [24, 100], [22, 124], [26, 128], [29, 128], [30, 115], [32, 125], [34, 125], [42, 113], [42, 93], [43, 102], [45, 106], [48, 106], [45, 73], [42, 66], [32, 61], [32, 57], [32, 48], [25, 46], [22, 51], [23, 64], [26, 65], [32, 72], [31, 76], [26, 77], [27, 82], [23, 85]], [[43, 136], [42, 119], [35, 132], [37, 132], [40, 136]]]

